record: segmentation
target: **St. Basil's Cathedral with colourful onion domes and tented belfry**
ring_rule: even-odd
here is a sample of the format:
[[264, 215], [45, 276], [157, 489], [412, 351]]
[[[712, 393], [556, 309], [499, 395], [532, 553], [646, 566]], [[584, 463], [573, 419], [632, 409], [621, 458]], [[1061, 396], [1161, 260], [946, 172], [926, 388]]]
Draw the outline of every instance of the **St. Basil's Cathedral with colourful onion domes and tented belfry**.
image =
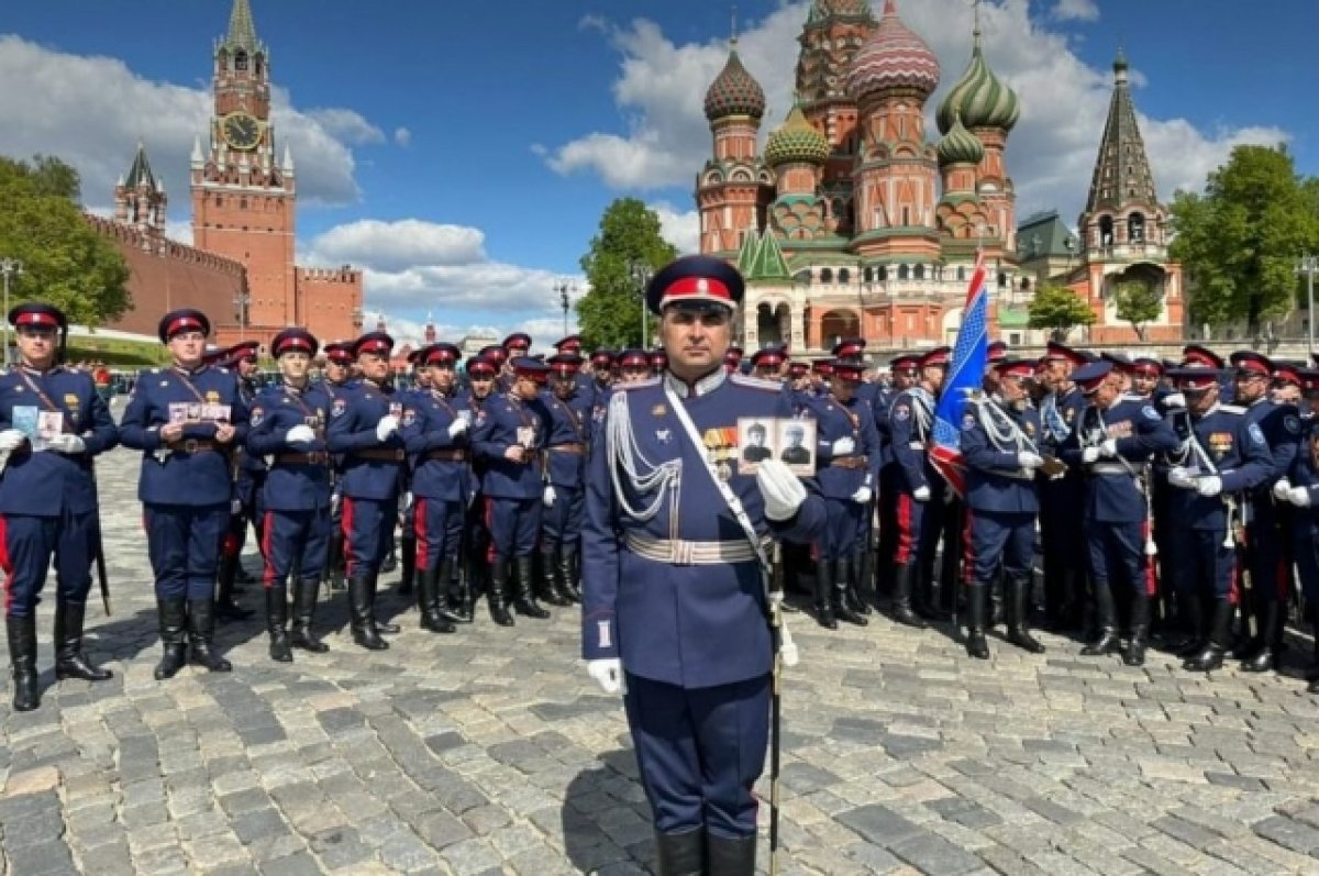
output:
[[1162, 293], [1150, 340], [1177, 338], [1182, 276], [1167, 261], [1166, 212], [1128, 91], [1116, 87], [1089, 198], [1072, 237], [1057, 214], [1018, 230], [1006, 150], [1017, 94], [989, 67], [976, 20], [971, 62], [935, 111], [939, 59], [885, 0], [814, 0], [799, 37], [794, 106], [758, 148], [765, 92], [737, 55], [706, 94], [714, 156], [696, 177], [700, 251], [748, 278], [743, 343], [824, 351], [860, 335], [872, 350], [951, 343], [976, 253], [991, 268], [991, 335], [1038, 343], [1029, 305], [1041, 282], [1095, 311], [1086, 340], [1134, 342], [1117, 288]]

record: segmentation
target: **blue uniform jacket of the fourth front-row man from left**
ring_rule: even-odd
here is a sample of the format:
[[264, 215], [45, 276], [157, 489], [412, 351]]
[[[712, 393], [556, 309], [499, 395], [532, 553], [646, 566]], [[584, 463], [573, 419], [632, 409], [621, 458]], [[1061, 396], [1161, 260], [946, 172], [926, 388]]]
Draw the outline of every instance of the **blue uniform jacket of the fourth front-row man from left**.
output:
[[[342, 495], [372, 501], [398, 496], [404, 439], [397, 431], [384, 441], [376, 437], [376, 426], [390, 414], [398, 417], [401, 426], [402, 402], [392, 387], [377, 387], [369, 380], [347, 384], [330, 402], [326, 441], [331, 453], [343, 454]], [[371, 458], [360, 451], [371, 454]], [[392, 458], [388, 458], [389, 451], [394, 451]]]

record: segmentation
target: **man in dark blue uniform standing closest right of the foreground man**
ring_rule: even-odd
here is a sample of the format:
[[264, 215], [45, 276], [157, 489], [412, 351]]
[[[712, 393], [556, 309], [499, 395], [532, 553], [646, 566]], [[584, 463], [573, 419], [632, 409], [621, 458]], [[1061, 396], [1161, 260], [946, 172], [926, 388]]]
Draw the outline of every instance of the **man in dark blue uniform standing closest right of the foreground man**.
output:
[[871, 405], [856, 396], [865, 365], [852, 359], [834, 361], [830, 394], [814, 398], [818, 482], [828, 525], [815, 542], [815, 619], [838, 628], [838, 620], [864, 627], [857, 611], [860, 569], [855, 563], [865, 515], [880, 476], [880, 437]]

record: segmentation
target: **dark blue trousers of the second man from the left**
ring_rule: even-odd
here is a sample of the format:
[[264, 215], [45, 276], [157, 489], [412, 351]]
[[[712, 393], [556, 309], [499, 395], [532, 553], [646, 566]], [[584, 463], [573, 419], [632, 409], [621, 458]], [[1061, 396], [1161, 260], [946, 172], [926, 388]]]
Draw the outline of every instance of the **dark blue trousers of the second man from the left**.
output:
[[145, 504], [146, 549], [157, 599], [210, 599], [230, 505]]

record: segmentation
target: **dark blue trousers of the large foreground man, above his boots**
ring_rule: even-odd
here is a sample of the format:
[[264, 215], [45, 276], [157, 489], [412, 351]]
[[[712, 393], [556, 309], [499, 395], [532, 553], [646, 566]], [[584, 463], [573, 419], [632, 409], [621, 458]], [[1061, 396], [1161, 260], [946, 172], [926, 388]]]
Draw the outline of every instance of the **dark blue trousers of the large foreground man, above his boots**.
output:
[[656, 830], [756, 834], [752, 786], [765, 769], [770, 677], [679, 687], [628, 673], [623, 704]]

